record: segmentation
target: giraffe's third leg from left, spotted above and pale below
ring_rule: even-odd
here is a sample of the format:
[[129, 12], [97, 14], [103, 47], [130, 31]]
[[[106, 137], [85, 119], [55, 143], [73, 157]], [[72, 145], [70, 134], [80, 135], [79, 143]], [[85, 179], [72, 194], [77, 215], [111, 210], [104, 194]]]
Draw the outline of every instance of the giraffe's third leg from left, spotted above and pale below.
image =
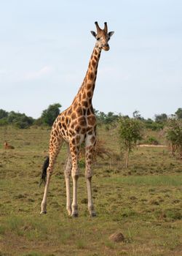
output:
[[71, 159], [72, 159], [72, 169], [71, 176], [73, 179], [73, 201], [71, 204], [72, 208], [72, 217], [79, 217], [78, 211], [78, 203], [77, 203], [77, 187], [78, 187], [78, 179], [79, 179], [79, 167], [78, 167], [78, 159], [79, 159], [79, 147], [70, 146]]

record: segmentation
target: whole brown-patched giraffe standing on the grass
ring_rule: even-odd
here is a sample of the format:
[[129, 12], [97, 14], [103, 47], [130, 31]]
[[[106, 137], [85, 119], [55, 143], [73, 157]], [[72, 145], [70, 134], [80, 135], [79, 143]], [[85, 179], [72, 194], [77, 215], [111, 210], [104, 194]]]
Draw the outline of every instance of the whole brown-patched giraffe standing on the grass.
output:
[[[91, 31], [96, 38], [95, 47], [89, 61], [87, 73], [71, 106], [64, 110], [55, 119], [50, 135], [49, 157], [44, 162], [41, 173], [41, 182], [45, 182], [44, 197], [41, 202], [41, 213], [47, 213], [47, 192], [50, 185], [55, 159], [58, 156], [63, 142], [66, 142], [68, 158], [64, 176], [66, 181], [66, 209], [68, 215], [78, 217], [77, 181], [79, 178], [79, 147], [85, 143], [85, 178], [87, 181], [88, 211], [91, 217], [95, 217], [95, 208], [92, 203], [92, 152], [96, 143], [96, 118], [92, 108], [92, 96], [95, 89], [95, 80], [98, 71], [98, 62], [101, 50], [109, 50], [108, 40], [114, 31], [108, 32], [107, 23], [104, 29], [100, 29], [95, 21], [97, 33]], [[70, 196], [70, 178], [73, 180], [73, 200]]]

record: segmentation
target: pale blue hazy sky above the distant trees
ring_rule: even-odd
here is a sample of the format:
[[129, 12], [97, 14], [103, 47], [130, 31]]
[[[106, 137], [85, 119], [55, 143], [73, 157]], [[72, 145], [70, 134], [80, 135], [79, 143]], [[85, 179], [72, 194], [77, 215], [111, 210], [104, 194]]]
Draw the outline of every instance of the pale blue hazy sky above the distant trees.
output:
[[51, 104], [68, 108], [95, 21], [114, 35], [100, 56], [93, 107], [144, 118], [182, 108], [181, 0], [0, 2], [0, 109], [39, 118]]

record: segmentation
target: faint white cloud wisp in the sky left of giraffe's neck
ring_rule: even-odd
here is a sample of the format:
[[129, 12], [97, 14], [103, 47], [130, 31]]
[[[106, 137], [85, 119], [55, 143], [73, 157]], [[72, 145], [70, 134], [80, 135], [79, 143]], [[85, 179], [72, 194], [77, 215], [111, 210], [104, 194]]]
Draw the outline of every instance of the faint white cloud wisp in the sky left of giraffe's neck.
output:
[[51, 66], [45, 66], [39, 69], [38, 71], [25, 72], [23, 80], [35, 80], [39, 78], [44, 78], [47, 75], [50, 75], [53, 71]]

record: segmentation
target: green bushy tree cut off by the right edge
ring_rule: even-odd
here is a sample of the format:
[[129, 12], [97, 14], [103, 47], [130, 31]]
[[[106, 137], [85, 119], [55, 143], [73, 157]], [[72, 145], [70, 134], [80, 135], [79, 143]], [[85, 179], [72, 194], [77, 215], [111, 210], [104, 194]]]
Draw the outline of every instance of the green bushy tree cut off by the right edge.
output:
[[177, 118], [170, 118], [167, 121], [167, 126], [165, 127], [165, 135], [167, 140], [170, 142], [170, 149], [173, 154], [175, 152], [179, 154], [182, 159], [182, 121]]

